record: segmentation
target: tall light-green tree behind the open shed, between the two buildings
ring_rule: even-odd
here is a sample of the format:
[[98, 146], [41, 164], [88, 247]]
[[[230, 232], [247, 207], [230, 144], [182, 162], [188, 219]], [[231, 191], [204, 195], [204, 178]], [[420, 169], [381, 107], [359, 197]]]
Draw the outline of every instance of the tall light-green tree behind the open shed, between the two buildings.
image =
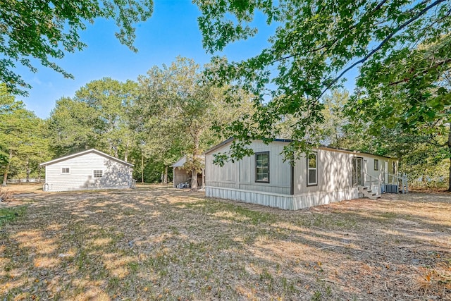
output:
[[139, 115], [147, 133], [147, 153], [159, 157], [165, 166], [186, 155], [192, 189], [197, 188], [197, 172], [202, 168], [199, 155], [223, 139], [211, 128], [221, 128], [252, 111], [245, 94], [240, 106], [228, 105], [225, 90], [211, 85], [201, 71], [191, 59], [178, 57], [171, 66], [155, 66], [139, 78]]

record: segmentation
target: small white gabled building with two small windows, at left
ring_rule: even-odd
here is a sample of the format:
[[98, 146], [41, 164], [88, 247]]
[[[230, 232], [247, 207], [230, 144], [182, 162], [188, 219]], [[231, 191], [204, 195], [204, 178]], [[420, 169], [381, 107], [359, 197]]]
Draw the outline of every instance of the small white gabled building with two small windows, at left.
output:
[[109, 154], [88, 149], [39, 164], [45, 166], [44, 191], [131, 188], [132, 166]]

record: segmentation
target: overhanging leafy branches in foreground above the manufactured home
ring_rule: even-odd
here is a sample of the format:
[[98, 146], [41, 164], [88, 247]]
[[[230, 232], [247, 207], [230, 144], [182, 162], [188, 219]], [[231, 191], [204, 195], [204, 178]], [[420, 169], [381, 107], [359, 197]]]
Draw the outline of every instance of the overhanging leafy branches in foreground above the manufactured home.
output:
[[[373, 69], [390, 58], [409, 61], [422, 43], [435, 44], [434, 51], [442, 59], [424, 65], [419, 75], [424, 74], [422, 70], [444, 66], [450, 58], [451, 47], [438, 43], [450, 33], [450, 1], [194, 2], [202, 11], [199, 27], [204, 47], [211, 53], [256, 35], [252, 20], [258, 11], [269, 25], [277, 26], [270, 46], [260, 54], [235, 63], [216, 58], [218, 67], [210, 75], [220, 84], [234, 82], [257, 96], [259, 113], [252, 116], [254, 123], [240, 123], [235, 128], [240, 140], [268, 137], [281, 118], [295, 118], [291, 135], [296, 142], [285, 149], [288, 155], [308, 149], [306, 142], [316, 143], [321, 138], [314, 135], [323, 122], [321, 97], [339, 87], [349, 70], [359, 66]], [[366, 72], [360, 76], [378, 85]], [[271, 101], [266, 102], [266, 97]], [[443, 107], [435, 102], [431, 110], [418, 109], [411, 102], [407, 106], [409, 112], [419, 110], [409, 119], [409, 126], [414, 126], [415, 118], [428, 118]], [[239, 150], [235, 149], [238, 156]]]

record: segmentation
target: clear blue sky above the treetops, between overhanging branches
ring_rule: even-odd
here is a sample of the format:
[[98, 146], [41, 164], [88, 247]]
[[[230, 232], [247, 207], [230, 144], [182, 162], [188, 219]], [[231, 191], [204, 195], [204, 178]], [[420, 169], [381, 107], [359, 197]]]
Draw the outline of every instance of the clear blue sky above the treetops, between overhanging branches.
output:
[[[35, 111], [40, 118], [47, 118], [56, 100], [73, 97], [75, 91], [92, 80], [104, 77], [120, 81], [136, 80], [138, 75], [144, 75], [152, 66], [169, 65], [179, 55], [204, 65], [211, 56], [202, 48], [197, 16], [199, 9], [189, 0], [154, 1], [152, 17], [136, 25], [135, 47], [139, 49], [138, 53], [118, 42], [114, 36], [117, 27], [112, 20], [96, 20], [80, 35], [87, 48], [75, 54], [66, 54], [64, 59], [56, 61], [72, 73], [75, 80], [63, 78], [60, 73], [38, 63], [35, 63], [37, 73], [18, 68], [32, 89], [28, 91], [28, 97], [18, 96], [17, 99], [25, 102], [27, 109]], [[257, 37], [230, 45], [221, 55], [237, 61], [259, 53], [267, 45], [272, 29], [265, 26], [263, 18], [258, 19], [261, 33]]]

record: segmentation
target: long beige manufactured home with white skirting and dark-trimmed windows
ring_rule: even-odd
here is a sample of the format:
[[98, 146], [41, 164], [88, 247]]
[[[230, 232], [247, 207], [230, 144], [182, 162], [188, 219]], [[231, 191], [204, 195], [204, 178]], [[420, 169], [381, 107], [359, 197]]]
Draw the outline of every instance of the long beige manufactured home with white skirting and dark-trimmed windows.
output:
[[344, 149], [318, 147], [308, 156], [284, 161], [290, 140], [266, 145], [254, 140], [253, 156], [214, 164], [215, 154], [227, 154], [233, 139], [205, 152], [206, 196], [234, 199], [282, 209], [302, 209], [344, 199], [376, 198], [397, 173], [397, 159]]

